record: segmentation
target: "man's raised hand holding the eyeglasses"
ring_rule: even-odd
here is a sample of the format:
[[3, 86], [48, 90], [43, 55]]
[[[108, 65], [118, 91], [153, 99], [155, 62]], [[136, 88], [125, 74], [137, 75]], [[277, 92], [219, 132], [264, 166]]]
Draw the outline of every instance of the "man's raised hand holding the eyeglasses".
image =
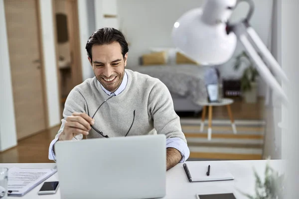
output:
[[64, 129], [58, 140], [71, 140], [79, 134], [88, 135], [94, 122], [94, 119], [86, 113], [74, 112], [66, 118]]

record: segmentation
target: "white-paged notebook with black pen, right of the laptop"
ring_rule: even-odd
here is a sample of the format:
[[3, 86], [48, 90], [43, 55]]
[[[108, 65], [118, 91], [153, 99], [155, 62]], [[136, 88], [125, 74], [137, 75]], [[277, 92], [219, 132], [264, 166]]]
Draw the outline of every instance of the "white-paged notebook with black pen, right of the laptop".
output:
[[[207, 176], [209, 165], [210, 175]], [[213, 163], [184, 163], [183, 167], [190, 182], [234, 180], [234, 177], [229, 170], [217, 164], [217, 161]]]

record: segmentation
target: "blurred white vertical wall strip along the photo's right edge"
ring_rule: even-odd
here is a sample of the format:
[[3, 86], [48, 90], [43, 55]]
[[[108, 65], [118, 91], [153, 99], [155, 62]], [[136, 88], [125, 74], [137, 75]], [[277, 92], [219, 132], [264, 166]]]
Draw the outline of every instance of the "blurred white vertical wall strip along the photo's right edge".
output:
[[290, 100], [288, 107], [283, 106], [282, 156], [287, 160], [285, 191], [286, 199], [298, 199], [299, 184], [299, 1], [282, 0], [282, 67], [291, 84], [283, 84]]

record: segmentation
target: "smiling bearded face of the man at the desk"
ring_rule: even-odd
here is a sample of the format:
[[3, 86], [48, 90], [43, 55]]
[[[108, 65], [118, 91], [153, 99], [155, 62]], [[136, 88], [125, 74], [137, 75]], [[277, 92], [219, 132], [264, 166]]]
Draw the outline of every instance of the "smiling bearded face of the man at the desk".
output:
[[105, 89], [115, 92], [122, 83], [127, 65], [128, 53], [123, 58], [122, 48], [118, 42], [109, 45], [94, 45], [92, 65], [95, 76]]

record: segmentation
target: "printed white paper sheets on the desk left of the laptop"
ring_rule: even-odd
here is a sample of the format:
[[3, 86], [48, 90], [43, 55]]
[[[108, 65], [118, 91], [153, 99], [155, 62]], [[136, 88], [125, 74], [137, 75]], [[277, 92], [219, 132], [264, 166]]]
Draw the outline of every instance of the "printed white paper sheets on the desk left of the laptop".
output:
[[57, 169], [23, 169], [13, 167], [8, 170], [8, 195], [23, 196], [56, 172]]

